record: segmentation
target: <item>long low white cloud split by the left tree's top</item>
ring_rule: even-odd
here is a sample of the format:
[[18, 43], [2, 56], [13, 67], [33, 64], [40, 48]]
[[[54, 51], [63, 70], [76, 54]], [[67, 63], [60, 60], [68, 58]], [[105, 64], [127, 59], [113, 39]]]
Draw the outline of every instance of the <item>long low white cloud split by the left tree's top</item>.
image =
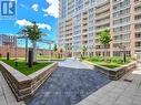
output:
[[[20, 25], [20, 27], [27, 27], [27, 25], [32, 25], [32, 22], [26, 20], [26, 19], [22, 19], [22, 20], [17, 20], [16, 21], [16, 24]], [[37, 25], [40, 28], [40, 29], [47, 29], [49, 31], [51, 31], [51, 27], [49, 24], [46, 24], [46, 23], [37, 23]]]

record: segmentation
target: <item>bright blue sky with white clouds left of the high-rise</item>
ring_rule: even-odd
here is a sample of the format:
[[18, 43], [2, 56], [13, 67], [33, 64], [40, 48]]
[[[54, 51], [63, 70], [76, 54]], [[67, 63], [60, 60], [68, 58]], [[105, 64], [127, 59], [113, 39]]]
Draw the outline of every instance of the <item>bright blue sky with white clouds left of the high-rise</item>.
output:
[[[6, 0], [7, 1], [7, 0]], [[44, 39], [57, 40], [57, 20], [59, 17], [59, 0], [17, 0], [17, 18], [0, 20], [0, 34], [17, 34], [23, 27], [36, 21]], [[18, 44], [23, 45], [20, 41]], [[40, 43], [39, 46], [43, 43]]]

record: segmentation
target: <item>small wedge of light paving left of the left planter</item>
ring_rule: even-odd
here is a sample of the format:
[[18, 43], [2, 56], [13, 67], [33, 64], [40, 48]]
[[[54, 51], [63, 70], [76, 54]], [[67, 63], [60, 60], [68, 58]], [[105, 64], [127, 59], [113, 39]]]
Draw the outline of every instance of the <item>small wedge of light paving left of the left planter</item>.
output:
[[13, 93], [8, 86], [1, 72], [0, 72], [0, 105], [26, 105], [23, 102], [17, 102]]

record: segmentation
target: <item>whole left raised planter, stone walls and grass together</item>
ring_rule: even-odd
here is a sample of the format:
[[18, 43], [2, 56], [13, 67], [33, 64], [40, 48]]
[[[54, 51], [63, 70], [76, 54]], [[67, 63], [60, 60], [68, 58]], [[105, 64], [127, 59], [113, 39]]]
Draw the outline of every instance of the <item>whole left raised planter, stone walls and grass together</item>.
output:
[[57, 67], [57, 62], [40, 62], [28, 67], [23, 61], [19, 61], [18, 66], [13, 60], [0, 61], [0, 70], [18, 101], [32, 95]]

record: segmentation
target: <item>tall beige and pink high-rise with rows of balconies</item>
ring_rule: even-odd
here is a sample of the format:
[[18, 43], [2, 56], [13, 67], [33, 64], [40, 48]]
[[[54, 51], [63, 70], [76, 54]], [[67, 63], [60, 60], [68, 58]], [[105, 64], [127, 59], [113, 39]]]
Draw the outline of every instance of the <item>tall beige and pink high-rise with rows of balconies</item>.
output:
[[59, 0], [58, 43], [71, 55], [103, 55], [100, 32], [108, 29], [112, 41], [107, 55], [141, 56], [141, 0]]

